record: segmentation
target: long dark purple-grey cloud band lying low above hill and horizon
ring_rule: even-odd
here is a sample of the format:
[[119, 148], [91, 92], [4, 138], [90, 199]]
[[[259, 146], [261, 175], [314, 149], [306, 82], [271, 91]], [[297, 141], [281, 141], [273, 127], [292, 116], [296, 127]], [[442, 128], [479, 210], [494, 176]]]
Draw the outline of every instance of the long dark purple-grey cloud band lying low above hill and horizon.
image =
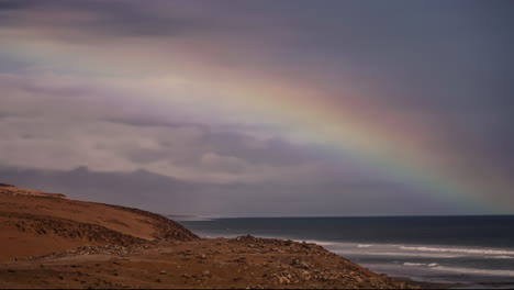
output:
[[362, 215], [364, 212], [372, 212], [373, 215], [463, 213], [459, 207], [443, 204], [429, 196], [383, 182], [350, 181], [323, 187], [215, 185], [181, 181], [145, 170], [116, 174], [91, 171], [86, 167], [70, 171], [0, 167], [0, 178], [1, 182], [19, 187], [64, 193], [78, 200], [138, 207], [163, 214], [333, 216]]

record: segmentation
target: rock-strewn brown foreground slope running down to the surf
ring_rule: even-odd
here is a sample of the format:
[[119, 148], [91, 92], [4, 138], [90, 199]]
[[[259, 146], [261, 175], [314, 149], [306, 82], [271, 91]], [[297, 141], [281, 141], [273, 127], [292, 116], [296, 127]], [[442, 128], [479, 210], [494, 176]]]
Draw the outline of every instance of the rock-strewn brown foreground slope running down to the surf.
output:
[[0, 265], [1, 288], [415, 289], [315, 244], [253, 236], [89, 247]]

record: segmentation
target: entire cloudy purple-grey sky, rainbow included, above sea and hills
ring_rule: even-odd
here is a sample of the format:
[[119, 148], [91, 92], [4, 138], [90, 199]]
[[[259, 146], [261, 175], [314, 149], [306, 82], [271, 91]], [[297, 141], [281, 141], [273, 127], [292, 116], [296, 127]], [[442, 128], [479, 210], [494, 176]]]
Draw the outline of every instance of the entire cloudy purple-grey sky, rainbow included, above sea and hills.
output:
[[0, 0], [0, 182], [164, 214], [514, 214], [513, 12]]

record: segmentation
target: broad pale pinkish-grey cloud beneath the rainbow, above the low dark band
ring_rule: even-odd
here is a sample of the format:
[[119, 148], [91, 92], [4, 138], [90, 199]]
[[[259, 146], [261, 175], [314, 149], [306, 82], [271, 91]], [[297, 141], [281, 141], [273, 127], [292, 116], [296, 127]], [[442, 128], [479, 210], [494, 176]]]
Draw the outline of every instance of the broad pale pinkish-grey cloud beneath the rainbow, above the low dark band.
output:
[[[1, 76], [0, 164], [54, 170], [145, 169], [185, 180], [292, 182], [323, 178], [321, 159], [280, 138], [231, 127], [145, 121], [137, 102], [74, 79]], [[131, 109], [132, 108], [132, 109]], [[118, 116], [116, 116], [118, 115]], [[123, 121], [113, 121], [123, 120]], [[152, 120], [152, 119], [149, 119]]]

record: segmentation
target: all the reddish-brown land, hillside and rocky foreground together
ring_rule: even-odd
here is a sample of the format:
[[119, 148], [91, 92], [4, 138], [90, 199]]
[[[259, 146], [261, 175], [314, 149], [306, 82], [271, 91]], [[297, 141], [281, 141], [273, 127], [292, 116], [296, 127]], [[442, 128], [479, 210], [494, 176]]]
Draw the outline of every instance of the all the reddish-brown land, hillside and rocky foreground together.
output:
[[0, 185], [0, 288], [416, 288], [315, 244], [199, 238], [158, 214]]

